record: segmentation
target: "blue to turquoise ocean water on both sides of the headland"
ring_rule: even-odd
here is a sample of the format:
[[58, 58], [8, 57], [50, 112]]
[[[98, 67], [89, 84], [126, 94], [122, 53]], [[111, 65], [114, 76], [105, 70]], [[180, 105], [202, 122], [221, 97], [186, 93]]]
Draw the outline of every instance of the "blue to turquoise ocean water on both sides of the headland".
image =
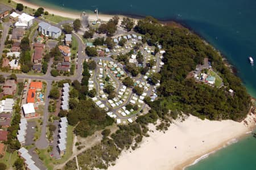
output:
[[[93, 11], [100, 13], [151, 15], [160, 20], [176, 20], [191, 28], [217, 48], [237, 68], [251, 96], [256, 97], [256, 1], [255, 0], [26, 0], [59, 10]], [[256, 139], [240, 140], [210, 155], [207, 159], [186, 168], [256, 169]]]

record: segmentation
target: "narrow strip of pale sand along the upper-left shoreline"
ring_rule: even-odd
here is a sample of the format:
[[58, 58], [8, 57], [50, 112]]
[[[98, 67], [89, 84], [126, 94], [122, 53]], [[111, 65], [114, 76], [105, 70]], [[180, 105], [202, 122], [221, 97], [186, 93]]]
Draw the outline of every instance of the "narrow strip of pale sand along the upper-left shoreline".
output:
[[[13, 0], [16, 3], [22, 3], [24, 6], [30, 7], [32, 9], [38, 9], [39, 7], [43, 7], [44, 11], [48, 11], [49, 14], [55, 14], [55, 15], [59, 15], [59, 16], [65, 16], [67, 18], [71, 18], [71, 19], [77, 19], [80, 18], [80, 13], [75, 13], [75, 12], [67, 12], [67, 11], [60, 11], [60, 10], [56, 10], [56, 9], [51, 9], [49, 7], [45, 7], [45, 6], [38, 6], [35, 5], [33, 3], [29, 3], [29, 2], [24, 2], [22, 0]], [[82, 12], [82, 11], [81, 11]], [[89, 20], [97, 20], [97, 16], [96, 14], [89, 14], [87, 13], [89, 16]], [[105, 14], [98, 14], [98, 18], [101, 21], [108, 21], [109, 19], [111, 19], [114, 15], [105, 15]], [[122, 19], [123, 15], [118, 15], [120, 19]]]

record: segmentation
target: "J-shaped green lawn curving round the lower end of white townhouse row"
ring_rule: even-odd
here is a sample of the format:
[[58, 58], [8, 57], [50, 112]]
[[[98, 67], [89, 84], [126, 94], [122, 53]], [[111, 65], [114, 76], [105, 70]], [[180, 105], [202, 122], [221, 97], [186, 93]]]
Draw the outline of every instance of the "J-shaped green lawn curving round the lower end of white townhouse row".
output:
[[39, 157], [42, 157], [44, 165], [48, 168], [48, 170], [52, 170], [55, 164], [61, 164], [64, 163], [66, 160], [68, 160], [69, 157], [72, 155], [72, 147], [73, 147], [73, 126], [68, 125], [68, 136], [67, 136], [67, 152], [66, 154], [61, 157], [61, 159], [56, 160], [52, 157], [50, 157], [49, 152], [47, 149], [40, 150]]

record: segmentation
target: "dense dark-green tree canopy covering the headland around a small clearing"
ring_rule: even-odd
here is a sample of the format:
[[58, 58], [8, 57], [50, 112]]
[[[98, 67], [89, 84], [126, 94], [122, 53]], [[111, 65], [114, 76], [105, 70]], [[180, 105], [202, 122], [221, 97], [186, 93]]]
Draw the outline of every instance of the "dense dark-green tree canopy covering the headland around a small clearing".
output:
[[[250, 97], [241, 80], [230, 72], [221, 56], [199, 36], [185, 28], [161, 26], [151, 17], [139, 20], [135, 31], [144, 34], [149, 45], [159, 42], [166, 49], [161, 76], [151, 76], [154, 83], [159, 78], [161, 81], [158, 89], [160, 98], [150, 103], [159, 115], [167, 113], [164, 110], [177, 110], [209, 119], [241, 121], [246, 116]], [[186, 78], [196, 64], [202, 64], [206, 57], [224, 81], [221, 89]], [[227, 92], [228, 89], [234, 90], [233, 96]]]

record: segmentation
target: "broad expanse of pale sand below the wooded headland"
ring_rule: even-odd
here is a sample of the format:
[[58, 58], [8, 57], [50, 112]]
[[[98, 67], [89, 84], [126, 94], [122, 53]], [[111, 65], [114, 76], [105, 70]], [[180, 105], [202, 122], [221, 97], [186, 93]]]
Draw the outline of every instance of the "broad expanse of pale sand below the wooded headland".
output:
[[[234, 121], [202, 121], [189, 116], [184, 122], [175, 121], [164, 134], [150, 125], [150, 137], [135, 151], [125, 151], [109, 170], [171, 170], [183, 169], [199, 157], [224, 147], [251, 131], [255, 115], [245, 123]], [[175, 148], [176, 147], [176, 148]]]

